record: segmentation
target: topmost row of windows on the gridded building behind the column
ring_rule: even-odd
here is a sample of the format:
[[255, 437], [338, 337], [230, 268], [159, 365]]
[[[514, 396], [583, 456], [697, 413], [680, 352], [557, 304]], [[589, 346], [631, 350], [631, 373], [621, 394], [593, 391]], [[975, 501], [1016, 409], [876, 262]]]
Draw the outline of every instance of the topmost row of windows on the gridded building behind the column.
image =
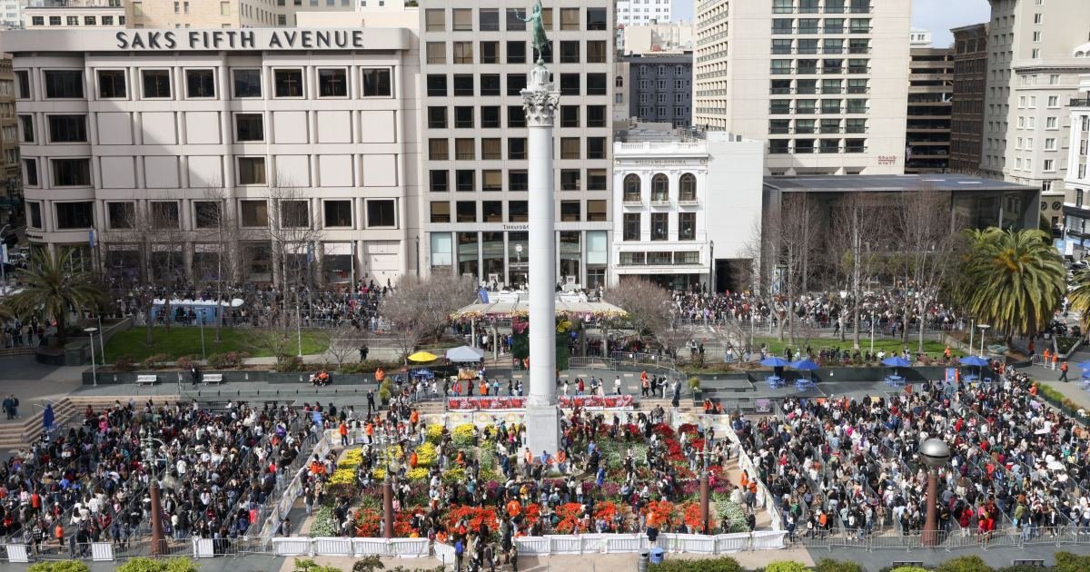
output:
[[[608, 12], [605, 8], [588, 8], [585, 26], [580, 22], [582, 9], [561, 8], [560, 27], [561, 31], [605, 31], [608, 29]], [[508, 32], [523, 32], [526, 29], [524, 17], [530, 14], [525, 10], [504, 10], [500, 17], [500, 9], [481, 8], [477, 9], [476, 28], [473, 26], [473, 9], [455, 8], [450, 10], [450, 17], [447, 17], [447, 10], [443, 8], [429, 8], [424, 10], [425, 32], [499, 32], [500, 20], [504, 21], [504, 28]], [[553, 9], [543, 8], [541, 11], [542, 24], [545, 29], [555, 29], [553, 22]]]

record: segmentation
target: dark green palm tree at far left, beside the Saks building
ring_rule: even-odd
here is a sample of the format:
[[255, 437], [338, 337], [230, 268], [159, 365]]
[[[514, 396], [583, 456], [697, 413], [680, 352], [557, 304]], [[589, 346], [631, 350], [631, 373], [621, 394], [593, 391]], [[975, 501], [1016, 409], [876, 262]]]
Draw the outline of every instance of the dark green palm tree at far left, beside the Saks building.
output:
[[57, 322], [57, 339], [61, 345], [68, 338], [68, 317], [94, 305], [101, 296], [101, 289], [90, 272], [76, 269], [72, 251], [55, 255], [43, 248], [31, 259], [27, 268], [15, 277], [22, 290], [11, 296], [11, 307], [19, 314], [44, 315]]

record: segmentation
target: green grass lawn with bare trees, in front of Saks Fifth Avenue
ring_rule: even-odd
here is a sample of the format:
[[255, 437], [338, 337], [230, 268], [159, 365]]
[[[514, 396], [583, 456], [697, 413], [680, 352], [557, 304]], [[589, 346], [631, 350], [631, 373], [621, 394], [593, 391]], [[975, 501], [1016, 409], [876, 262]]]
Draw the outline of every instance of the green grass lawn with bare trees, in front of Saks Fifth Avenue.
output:
[[[262, 343], [256, 330], [223, 328], [220, 334], [220, 342], [216, 343], [215, 328], [204, 329], [205, 355], [227, 352], [246, 352], [254, 357], [272, 355], [272, 351]], [[161, 326], [154, 329], [155, 344], [144, 343], [147, 331], [144, 327], [136, 327], [123, 331], [110, 339], [106, 344], [106, 361], [113, 363], [118, 357], [130, 355], [133, 362], [140, 362], [149, 355], [157, 353], [166, 354], [173, 361], [182, 355], [201, 356], [201, 328], [174, 326], [170, 332]], [[323, 353], [329, 346], [326, 334], [323, 331], [303, 330], [303, 354]], [[291, 334], [291, 343], [288, 350], [292, 355], [298, 351], [295, 334]]]

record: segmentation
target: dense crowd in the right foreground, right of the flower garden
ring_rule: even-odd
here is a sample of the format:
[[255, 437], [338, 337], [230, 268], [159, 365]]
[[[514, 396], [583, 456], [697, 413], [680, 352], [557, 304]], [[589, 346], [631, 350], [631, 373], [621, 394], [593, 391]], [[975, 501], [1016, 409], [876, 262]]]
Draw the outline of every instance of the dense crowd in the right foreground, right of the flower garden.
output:
[[1007, 370], [994, 384], [927, 382], [894, 398], [787, 399], [776, 416], [734, 419], [794, 536], [919, 533], [927, 516], [920, 443], [944, 440], [940, 527], [1024, 536], [1090, 525], [1090, 433]]

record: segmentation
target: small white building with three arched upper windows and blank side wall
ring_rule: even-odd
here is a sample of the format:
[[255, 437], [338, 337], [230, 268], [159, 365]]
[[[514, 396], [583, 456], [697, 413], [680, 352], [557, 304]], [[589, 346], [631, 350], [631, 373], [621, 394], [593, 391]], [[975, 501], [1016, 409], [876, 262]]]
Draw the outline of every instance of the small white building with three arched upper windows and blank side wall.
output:
[[744, 284], [760, 234], [764, 145], [707, 137], [629, 136], [614, 144], [610, 283], [647, 277], [664, 287]]

